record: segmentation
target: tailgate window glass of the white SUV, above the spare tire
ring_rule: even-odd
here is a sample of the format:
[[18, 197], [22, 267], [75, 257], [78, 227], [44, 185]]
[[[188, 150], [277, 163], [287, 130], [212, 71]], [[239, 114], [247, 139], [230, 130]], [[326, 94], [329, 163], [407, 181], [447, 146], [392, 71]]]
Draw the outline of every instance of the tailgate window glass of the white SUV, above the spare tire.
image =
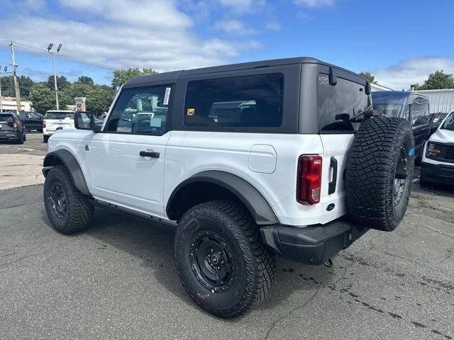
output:
[[317, 79], [317, 104], [321, 133], [355, 132], [361, 113], [371, 105], [365, 86], [339, 77], [336, 85], [330, 85], [328, 74], [319, 74]]

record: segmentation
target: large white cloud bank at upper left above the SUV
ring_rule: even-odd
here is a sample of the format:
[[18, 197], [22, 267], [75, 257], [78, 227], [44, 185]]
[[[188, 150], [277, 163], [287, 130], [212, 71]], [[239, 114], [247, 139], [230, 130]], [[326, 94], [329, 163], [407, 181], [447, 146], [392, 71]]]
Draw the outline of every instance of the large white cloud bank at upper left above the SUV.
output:
[[[113, 67], [153, 67], [160, 72], [225, 64], [260, 46], [254, 40], [201, 39], [175, 1], [60, 0], [72, 18], [0, 19], [0, 40], [45, 48], [62, 42], [62, 53]], [[82, 18], [82, 19], [78, 19]]]

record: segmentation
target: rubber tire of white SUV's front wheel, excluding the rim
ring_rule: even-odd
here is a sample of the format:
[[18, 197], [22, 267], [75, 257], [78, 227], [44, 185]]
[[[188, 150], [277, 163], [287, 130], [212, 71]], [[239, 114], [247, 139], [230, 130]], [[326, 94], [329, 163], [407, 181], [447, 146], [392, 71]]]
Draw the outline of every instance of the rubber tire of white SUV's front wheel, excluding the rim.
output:
[[[57, 183], [65, 194], [66, 210], [59, 217], [52, 209], [52, 186]], [[94, 213], [94, 205], [89, 198], [80, 193], [65, 166], [54, 166], [45, 177], [44, 205], [52, 227], [62, 234], [82, 232], [89, 227]]]

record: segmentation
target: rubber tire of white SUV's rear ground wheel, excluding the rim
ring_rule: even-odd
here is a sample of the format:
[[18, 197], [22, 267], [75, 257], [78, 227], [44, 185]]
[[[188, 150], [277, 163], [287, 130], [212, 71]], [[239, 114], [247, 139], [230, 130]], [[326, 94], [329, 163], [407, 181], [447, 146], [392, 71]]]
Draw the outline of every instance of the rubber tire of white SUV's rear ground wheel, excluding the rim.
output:
[[[218, 234], [231, 251], [233, 279], [214, 293], [204, 286], [191, 265], [194, 237]], [[175, 263], [184, 288], [197, 305], [218, 317], [238, 317], [258, 305], [270, 292], [275, 259], [260, 242], [258, 226], [250, 212], [231, 200], [214, 200], [184, 213], [175, 235]], [[223, 288], [221, 288], [223, 289]]]

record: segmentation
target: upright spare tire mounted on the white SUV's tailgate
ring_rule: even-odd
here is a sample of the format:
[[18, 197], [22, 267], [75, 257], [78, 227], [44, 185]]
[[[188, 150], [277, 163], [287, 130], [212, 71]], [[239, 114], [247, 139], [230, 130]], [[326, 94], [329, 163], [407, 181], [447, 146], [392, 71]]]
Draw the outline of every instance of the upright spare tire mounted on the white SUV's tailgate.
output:
[[413, 171], [414, 140], [408, 121], [365, 120], [348, 155], [348, 212], [364, 227], [394, 230], [409, 203]]

